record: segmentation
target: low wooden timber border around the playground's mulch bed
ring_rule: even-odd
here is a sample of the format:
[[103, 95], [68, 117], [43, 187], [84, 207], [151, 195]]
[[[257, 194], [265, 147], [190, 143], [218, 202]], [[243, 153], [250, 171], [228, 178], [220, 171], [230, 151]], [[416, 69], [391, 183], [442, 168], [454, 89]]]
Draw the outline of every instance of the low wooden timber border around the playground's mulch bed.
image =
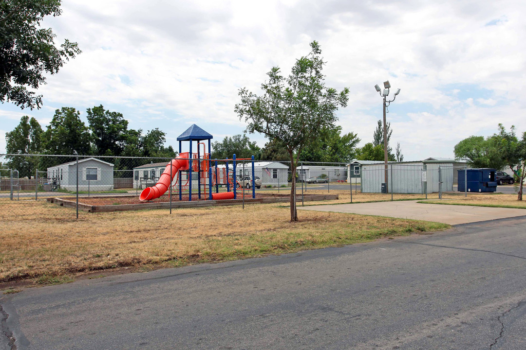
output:
[[[250, 203], [288, 203], [290, 195], [288, 194], [269, 194], [270, 197], [264, 198], [245, 198], [245, 204]], [[136, 197], [136, 196], [98, 196], [90, 198], [122, 198], [122, 197]], [[317, 195], [305, 194], [304, 200], [332, 200], [338, 199], [338, 195]], [[296, 197], [297, 201], [301, 201], [301, 196]], [[63, 198], [47, 198], [49, 203], [54, 203], [67, 208], [76, 208], [77, 203], [74, 200], [67, 200]], [[216, 205], [236, 205], [242, 204], [243, 199], [224, 199], [224, 200], [193, 200], [193, 201], [173, 201], [172, 208], [197, 208], [210, 207]], [[87, 211], [88, 213], [103, 213], [104, 211], [126, 211], [126, 210], [141, 210], [141, 209], [161, 209], [169, 208], [170, 202], [163, 201], [157, 203], [137, 203], [137, 204], [118, 204], [118, 205], [88, 205], [78, 203], [78, 210]]]

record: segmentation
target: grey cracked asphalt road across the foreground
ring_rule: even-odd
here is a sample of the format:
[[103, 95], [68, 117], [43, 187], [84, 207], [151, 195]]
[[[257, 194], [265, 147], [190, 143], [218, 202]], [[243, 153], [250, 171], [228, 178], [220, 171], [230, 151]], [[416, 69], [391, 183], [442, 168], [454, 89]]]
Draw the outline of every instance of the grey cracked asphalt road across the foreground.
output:
[[83, 280], [4, 295], [0, 349], [523, 350], [525, 271], [522, 217]]

